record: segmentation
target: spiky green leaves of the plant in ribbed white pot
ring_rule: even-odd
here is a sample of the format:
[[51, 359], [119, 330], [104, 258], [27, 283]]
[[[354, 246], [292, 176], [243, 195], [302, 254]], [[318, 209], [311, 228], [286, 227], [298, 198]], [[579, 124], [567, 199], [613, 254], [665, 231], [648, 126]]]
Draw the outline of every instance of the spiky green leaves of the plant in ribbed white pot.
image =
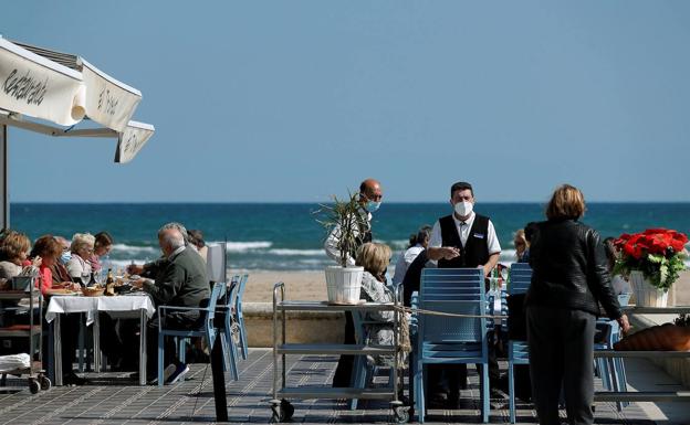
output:
[[346, 267], [347, 257], [357, 256], [357, 248], [363, 244], [365, 233], [369, 230], [369, 221], [359, 204], [359, 193], [351, 192], [344, 200], [333, 195], [333, 203], [318, 206], [313, 214], [316, 222], [326, 231], [324, 240], [335, 230], [336, 248], [341, 253], [338, 264]]

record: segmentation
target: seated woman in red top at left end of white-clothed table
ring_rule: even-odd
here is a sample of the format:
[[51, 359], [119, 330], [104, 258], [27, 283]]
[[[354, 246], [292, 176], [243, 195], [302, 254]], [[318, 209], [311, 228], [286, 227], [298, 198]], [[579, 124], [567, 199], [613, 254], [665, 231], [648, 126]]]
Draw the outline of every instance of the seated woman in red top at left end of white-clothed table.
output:
[[[31, 251], [33, 258], [41, 257], [41, 266], [39, 267], [39, 279], [36, 285], [41, 288], [43, 296], [56, 294], [59, 290], [72, 289], [79, 290], [77, 284], [65, 281], [60, 287], [53, 284], [53, 275], [51, 266], [58, 262], [62, 254], [62, 246], [52, 235], [44, 235], [36, 240]], [[62, 339], [62, 375], [65, 385], [82, 385], [85, 381], [74, 373], [72, 365], [74, 363], [76, 352], [76, 336], [79, 334], [80, 314], [66, 314], [61, 318], [61, 339]], [[46, 359], [48, 357], [43, 357]]]

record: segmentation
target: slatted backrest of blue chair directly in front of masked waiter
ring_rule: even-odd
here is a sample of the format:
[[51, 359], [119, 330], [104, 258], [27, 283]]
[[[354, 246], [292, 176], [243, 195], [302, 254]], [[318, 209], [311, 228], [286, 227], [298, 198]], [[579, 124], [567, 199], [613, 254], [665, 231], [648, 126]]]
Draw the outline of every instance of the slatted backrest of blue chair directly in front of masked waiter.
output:
[[[487, 314], [484, 274], [480, 268], [427, 268], [422, 272], [419, 308], [446, 314]], [[481, 342], [487, 334], [483, 317], [422, 314], [419, 338], [424, 343]]]

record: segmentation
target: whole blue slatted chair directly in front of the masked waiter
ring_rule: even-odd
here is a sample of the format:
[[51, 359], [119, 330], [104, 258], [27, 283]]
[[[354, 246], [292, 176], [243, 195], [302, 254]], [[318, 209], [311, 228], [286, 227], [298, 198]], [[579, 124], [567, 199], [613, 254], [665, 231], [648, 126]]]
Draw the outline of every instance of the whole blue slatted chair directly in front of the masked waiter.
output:
[[[484, 275], [479, 268], [426, 268], [421, 275], [419, 308], [456, 315], [487, 314]], [[482, 422], [489, 422], [489, 346], [484, 317], [420, 314], [417, 317], [414, 394], [420, 423], [425, 422], [425, 365], [481, 364]]]

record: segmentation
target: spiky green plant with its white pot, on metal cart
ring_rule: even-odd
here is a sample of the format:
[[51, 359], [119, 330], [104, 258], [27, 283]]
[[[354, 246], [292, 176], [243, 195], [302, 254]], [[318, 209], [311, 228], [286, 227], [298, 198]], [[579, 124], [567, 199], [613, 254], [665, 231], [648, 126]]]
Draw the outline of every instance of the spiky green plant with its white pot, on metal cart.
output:
[[314, 212], [316, 221], [326, 231], [326, 240], [333, 237], [338, 252], [337, 266], [326, 267], [328, 302], [356, 304], [359, 301], [364, 267], [348, 264], [357, 256], [369, 230], [367, 216], [362, 211], [358, 193], [349, 193], [345, 200], [333, 196], [333, 202], [321, 204]]

